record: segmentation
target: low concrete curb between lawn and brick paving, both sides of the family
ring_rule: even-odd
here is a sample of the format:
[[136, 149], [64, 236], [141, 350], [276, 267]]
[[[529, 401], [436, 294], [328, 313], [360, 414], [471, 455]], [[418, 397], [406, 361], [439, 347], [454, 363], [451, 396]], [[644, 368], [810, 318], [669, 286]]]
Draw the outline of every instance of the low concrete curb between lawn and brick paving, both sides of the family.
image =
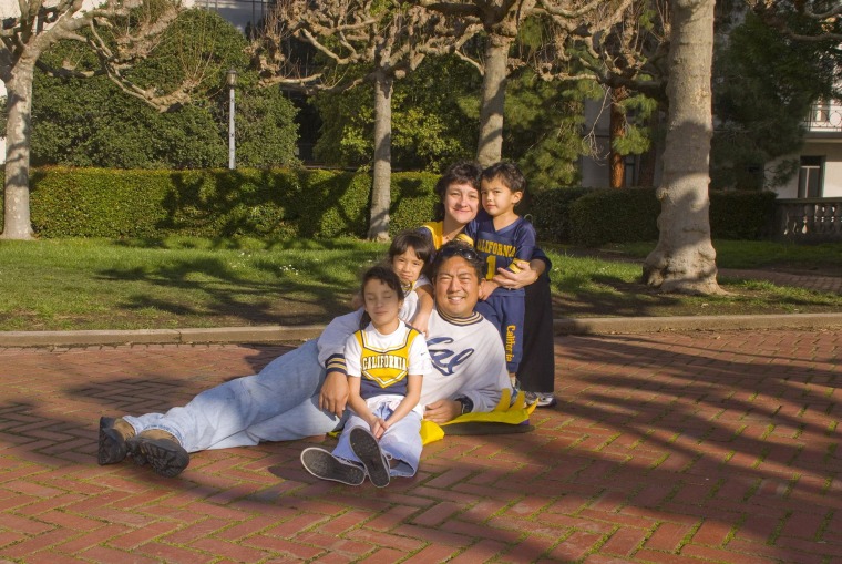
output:
[[[0, 331], [0, 347], [79, 347], [100, 345], [189, 345], [288, 342], [318, 337], [324, 325], [140, 329], [90, 331]], [[687, 316], [562, 318], [556, 335], [622, 335], [663, 331], [739, 331], [763, 329], [842, 329], [842, 314], [778, 316]]]

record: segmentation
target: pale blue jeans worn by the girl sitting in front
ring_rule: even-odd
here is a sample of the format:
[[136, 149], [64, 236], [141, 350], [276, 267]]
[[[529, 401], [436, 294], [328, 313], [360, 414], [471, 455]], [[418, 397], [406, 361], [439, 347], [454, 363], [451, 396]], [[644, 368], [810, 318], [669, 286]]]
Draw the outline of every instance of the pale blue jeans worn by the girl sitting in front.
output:
[[[339, 435], [339, 442], [333, 449], [333, 455], [348, 462], [361, 464], [360, 459], [351, 450], [350, 433], [355, 427], [361, 427], [367, 431], [371, 428], [364, 419], [350, 412], [348, 422], [345, 424], [342, 434]], [[382, 419], [389, 419], [392, 409], [388, 403], [380, 403], [371, 412]], [[421, 459], [421, 416], [418, 411], [410, 411], [407, 416], [391, 425], [380, 438], [380, 450], [386, 454], [387, 460], [396, 460], [397, 464], [389, 469], [389, 474], [393, 476], [413, 476], [418, 471], [418, 462]]]

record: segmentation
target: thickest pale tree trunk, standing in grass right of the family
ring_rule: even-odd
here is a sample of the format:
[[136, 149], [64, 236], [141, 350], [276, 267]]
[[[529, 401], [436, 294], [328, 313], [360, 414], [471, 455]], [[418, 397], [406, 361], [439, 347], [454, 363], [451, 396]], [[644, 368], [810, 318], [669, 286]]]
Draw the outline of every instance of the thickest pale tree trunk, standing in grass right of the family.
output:
[[710, 242], [710, 68], [715, 0], [677, 0], [669, 49], [669, 115], [658, 245], [644, 263], [644, 281], [663, 291], [721, 293]]

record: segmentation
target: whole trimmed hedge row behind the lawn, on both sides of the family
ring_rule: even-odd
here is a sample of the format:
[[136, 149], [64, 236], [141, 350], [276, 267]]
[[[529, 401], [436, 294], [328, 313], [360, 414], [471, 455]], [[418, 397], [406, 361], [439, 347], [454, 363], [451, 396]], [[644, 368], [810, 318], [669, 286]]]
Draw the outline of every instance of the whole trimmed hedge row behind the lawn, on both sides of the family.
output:
[[[433, 217], [437, 175], [394, 173], [391, 180], [392, 235]], [[32, 171], [30, 184], [32, 227], [48, 238], [364, 238], [371, 201], [368, 173], [325, 170], [43, 167]], [[651, 188], [553, 188], [531, 197], [524, 213], [532, 216], [542, 240], [598, 246], [658, 238], [660, 203]], [[712, 236], [767, 236], [774, 198], [770, 192], [711, 192]]]

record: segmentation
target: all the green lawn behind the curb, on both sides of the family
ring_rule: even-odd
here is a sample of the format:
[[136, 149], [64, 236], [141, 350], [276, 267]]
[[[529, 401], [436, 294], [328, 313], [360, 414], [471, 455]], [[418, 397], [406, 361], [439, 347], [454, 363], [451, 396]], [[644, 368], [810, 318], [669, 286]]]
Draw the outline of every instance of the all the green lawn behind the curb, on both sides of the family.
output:
[[[715, 242], [728, 268], [842, 273], [842, 245]], [[665, 295], [638, 283], [654, 247], [548, 254], [556, 316], [789, 314], [842, 310], [842, 296], [721, 277], [727, 295]], [[386, 246], [352, 239], [0, 242], [0, 330], [320, 324], [348, 311], [359, 273]], [[606, 259], [608, 256], [612, 259]], [[617, 260], [620, 258], [623, 260]]]

